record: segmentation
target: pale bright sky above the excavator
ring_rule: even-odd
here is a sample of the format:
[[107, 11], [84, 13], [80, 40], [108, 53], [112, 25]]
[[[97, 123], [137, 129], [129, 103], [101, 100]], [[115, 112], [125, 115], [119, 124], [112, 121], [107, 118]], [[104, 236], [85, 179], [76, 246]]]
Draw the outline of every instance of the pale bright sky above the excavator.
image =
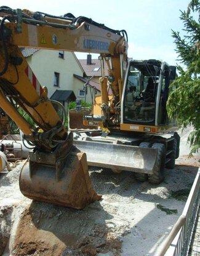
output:
[[[175, 65], [177, 54], [171, 29], [182, 30], [180, 10], [186, 10], [189, 2], [190, 0], [1, 0], [1, 6], [39, 10], [53, 15], [71, 12], [76, 17], [92, 18], [114, 30], [127, 31], [129, 57], [157, 58]], [[86, 55], [77, 54], [78, 58], [86, 58]]]

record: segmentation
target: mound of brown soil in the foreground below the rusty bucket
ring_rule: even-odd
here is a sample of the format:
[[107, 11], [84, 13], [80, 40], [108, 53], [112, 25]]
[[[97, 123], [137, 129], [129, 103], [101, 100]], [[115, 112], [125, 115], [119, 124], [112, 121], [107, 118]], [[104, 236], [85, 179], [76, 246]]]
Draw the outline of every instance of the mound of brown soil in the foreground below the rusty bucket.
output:
[[91, 233], [89, 228], [88, 233], [85, 228], [83, 236], [81, 225], [84, 220], [83, 228], [86, 226], [86, 219], [89, 220], [87, 215], [84, 214], [82, 220], [76, 220], [78, 223], [74, 224], [74, 210], [69, 210], [67, 215], [64, 213], [66, 209], [63, 207], [49, 204], [42, 206], [42, 203], [33, 202], [20, 219], [12, 255], [95, 256], [98, 252], [106, 253], [110, 250], [120, 255], [122, 241], [113, 235], [113, 229], [102, 224], [94, 225], [94, 231]]

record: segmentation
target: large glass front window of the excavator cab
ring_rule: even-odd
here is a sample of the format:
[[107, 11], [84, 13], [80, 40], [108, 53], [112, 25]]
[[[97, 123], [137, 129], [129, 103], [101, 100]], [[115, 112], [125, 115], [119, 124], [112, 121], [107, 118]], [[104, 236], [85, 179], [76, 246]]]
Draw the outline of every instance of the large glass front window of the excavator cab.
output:
[[150, 122], [155, 120], [158, 79], [155, 71], [136, 68], [130, 64], [124, 95], [124, 122]]

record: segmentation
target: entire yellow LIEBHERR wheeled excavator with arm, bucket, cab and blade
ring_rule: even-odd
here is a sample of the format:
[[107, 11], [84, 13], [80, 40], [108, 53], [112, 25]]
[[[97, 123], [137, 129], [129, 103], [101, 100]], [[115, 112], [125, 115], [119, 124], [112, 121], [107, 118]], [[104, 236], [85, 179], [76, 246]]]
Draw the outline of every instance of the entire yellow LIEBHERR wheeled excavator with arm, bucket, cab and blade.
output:
[[[168, 159], [166, 163], [173, 167], [178, 156], [178, 135], [158, 135], [171, 127], [166, 100], [175, 67], [155, 60], [141, 65], [134, 60], [128, 63], [126, 31], [113, 30], [90, 18], [72, 14], [55, 17], [6, 6], [0, 7], [0, 17], [0, 107], [20, 127], [30, 146], [29, 159], [20, 174], [22, 193], [38, 201], [81, 209], [100, 199], [87, 164], [130, 170], [140, 180], [149, 177], [150, 182], [161, 182], [163, 163]], [[64, 126], [65, 109], [49, 100], [47, 88], [39, 84], [20, 47], [100, 54], [101, 114], [84, 116], [84, 124], [101, 124], [101, 136], [78, 133], [73, 140], [73, 133]], [[145, 100], [146, 79], [150, 78], [154, 86], [151, 101]], [[35, 125], [25, 120], [19, 107]], [[60, 110], [62, 119], [57, 113]]]

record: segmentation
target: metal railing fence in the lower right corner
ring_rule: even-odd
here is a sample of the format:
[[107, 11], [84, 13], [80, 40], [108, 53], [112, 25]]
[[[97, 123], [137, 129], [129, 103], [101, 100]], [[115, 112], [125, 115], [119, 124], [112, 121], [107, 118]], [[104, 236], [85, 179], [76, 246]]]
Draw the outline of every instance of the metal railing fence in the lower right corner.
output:
[[162, 247], [158, 256], [187, 256], [190, 250], [194, 225], [199, 211], [200, 199], [200, 168], [194, 180], [190, 194], [186, 201], [182, 215], [178, 218], [174, 228]]

